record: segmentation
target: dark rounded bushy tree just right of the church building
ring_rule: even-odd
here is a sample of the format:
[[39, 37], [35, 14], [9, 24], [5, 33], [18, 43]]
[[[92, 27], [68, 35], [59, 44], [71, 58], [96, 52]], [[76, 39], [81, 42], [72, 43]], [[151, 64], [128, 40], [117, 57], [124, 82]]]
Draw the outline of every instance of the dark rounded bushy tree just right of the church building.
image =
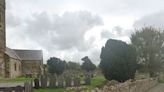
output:
[[48, 65], [48, 71], [51, 74], [60, 75], [65, 70], [65, 61], [62, 61], [56, 57], [51, 57], [47, 61], [47, 65]]

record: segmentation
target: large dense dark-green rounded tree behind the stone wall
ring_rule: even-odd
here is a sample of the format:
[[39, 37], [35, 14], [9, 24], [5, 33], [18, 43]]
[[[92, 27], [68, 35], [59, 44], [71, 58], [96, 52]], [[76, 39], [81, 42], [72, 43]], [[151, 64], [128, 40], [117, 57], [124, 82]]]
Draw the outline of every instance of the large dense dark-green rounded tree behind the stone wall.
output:
[[124, 82], [133, 79], [137, 69], [136, 51], [125, 42], [109, 39], [101, 50], [100, 68], [105, 78]]

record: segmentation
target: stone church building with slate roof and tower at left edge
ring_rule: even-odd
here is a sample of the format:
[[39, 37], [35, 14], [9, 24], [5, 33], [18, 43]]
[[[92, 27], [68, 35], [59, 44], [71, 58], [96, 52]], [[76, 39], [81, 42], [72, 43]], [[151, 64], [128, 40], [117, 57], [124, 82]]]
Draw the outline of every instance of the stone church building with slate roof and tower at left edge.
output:
[[0, 78], [41, 74], [42, 50], [20, 50], [6, 47], [5, 0], [0, 0]]

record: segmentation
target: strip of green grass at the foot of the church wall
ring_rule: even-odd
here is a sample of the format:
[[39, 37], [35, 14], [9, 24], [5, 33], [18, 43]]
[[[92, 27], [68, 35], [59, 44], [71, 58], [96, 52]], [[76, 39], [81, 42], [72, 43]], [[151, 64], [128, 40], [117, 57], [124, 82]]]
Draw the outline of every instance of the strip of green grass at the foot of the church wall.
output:
[[32, 80], [32, 78], [26, 78], [26, 77], [17, 77], [17, 78], [9, 78], [9, 79], [6, 79], [6, 78], [2, 78], [0, 79], [0, 82], [4, 82], [4, 83], [9, 83], [9, 82], [14, 82], [14, 83], [20, 83], [20, 82], [26, 82], [26, 81], [30, 81]]

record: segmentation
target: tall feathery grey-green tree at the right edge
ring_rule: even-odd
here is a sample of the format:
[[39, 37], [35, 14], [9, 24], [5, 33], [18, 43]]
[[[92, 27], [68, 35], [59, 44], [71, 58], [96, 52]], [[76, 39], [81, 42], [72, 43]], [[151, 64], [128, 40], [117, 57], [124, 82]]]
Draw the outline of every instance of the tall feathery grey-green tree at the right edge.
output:
[[137, 61], [149, 72], [150, 77], [159, 72], [163, 62], [164, 33], [160, 29], [145, 27], [136, 30], [131, 36], [132, 45], [137, 51]]

